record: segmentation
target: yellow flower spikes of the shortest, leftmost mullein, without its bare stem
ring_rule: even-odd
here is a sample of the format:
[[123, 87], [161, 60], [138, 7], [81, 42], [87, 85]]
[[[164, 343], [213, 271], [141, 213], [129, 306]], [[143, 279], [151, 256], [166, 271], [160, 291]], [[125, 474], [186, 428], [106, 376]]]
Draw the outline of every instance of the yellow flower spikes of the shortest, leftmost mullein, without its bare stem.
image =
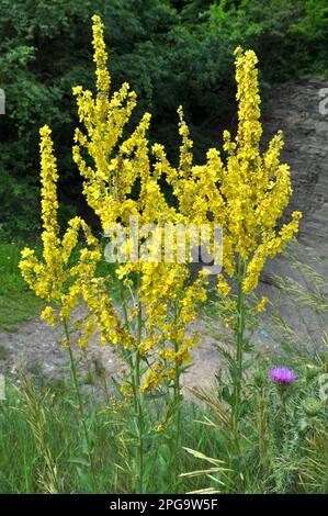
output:
[[[57, 315], [50, 304], [42, 312], [42, 318], [49, 325], [57, 321], [67, 324], [81, 296], [93, 309], [92, 315], [86, 318], [84, 334], [78, 343], [80, 346], [87, 346], [95, 323], [106, 335], [106, 341], [117, 343], [120, 339], [124, 345], [131, 346], [131, 338], [121, 327], [106, 294], [104, 281], [97, 278], [97, 266], [102, 257], [99, 242], [80, 217], [69, 221], [63, 238], [59, 236], [57, 179], [50, 130], [44, 126], [41, 130], [43, 259], [38, 259], [35, 250], [24, 248], [20, 261], [22, 276], [36, 295], [57, 306]], [[86, 247], [80, 249], [79, 257], [73, 260], [72, 251], [78, 245], [81, 231]]]

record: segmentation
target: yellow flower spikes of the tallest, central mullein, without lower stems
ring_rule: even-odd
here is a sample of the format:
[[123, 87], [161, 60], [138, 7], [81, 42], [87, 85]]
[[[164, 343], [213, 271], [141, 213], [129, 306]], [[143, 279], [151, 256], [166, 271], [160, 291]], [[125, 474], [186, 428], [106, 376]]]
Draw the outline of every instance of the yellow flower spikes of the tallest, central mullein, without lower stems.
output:
[[[103, 42], [103, 25], [99, 16], [93, 16], [93, 48], [97, 67], [97, 94], [73, 89], [78, 101], [79, 120], [84, 130], [76, 130], [73, 159], [84, 179], [83, 191], [89, 205], [100, 217], [104, 234], [111, 224], [121, 223], [129, 231], [131, 215], [138, 216], [138, 224], [165, 224], [188, 222], [188, 218], [169, 206], [160, 188], [163, 168], [158, 161], [150, 166], [148, 139], [146, 136], [150, 115], [146, 113], [133, 134], [121, 142], [123, 128], [136, 104], [136, 96], [124, 83], [118, 92], [110, 96], [110, 75], [106, 68], [106, 52]], [[183, 127], [180, 128], [183, 136]], [[184, 135], [185, 142], [188, 135]], [[185, 144], [186, 145], [186, 144]], [[160, 148], [160, 146], [158, 146]], [[114, 152], [115, 149], [115, 152]], [[83, 155], [91, 157], [87, 165]], [[181, 152], [181, 167], [188, 168], [190, 156]], [[89, 161], [88, 161], [89, 162]], [[132, 197], [134, 186], [138, 187], [137, 199]], [[142, 246], [145, 235], [139, 234]], [[163, 253], [162, 235], [160, 254]], [[177, 251], [176, 243], [174, 251]], [[151, 246], [150, 246], [151, 247]], [[125, 250], [126, 246], [125, 246]], [[148, 251], [151, 250], [148, 247]], [[143, 334], [137, 337], [137, 310], [135, 300], [126, 303], [126, 316], [132, 341], [137, 351], [150, 358], [151, 369], [146, 372], [142, 391], [155, 389], [172, 375], [177, 363], [190, 361], [193, 339], [185, 337], [185, 327], [196, 317], [195, 306], [205, 300], [205, 283], [202, 277], [186, 285], [190, 271], [186, 265], [154, 262], [144, 257], [143, 261], [122, 263], [117, 277], [133, 290], [133, 274], [139, 278], [135, 295], [142, 311]], [[174, 321], [172, 306], [179, 311], [179, 323]], [[102, 338], [106, 335], [100, 327]], [[165, 351], [165, 352], [161, 352]]]

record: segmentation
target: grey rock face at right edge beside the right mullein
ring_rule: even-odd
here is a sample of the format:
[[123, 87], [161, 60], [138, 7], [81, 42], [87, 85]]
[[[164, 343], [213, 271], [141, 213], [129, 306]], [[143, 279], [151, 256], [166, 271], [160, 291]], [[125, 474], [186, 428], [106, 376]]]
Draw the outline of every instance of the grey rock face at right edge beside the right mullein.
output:
[[[328, 113], [319, 112], [327, 80], [291, 81], [272, 91], [263, 115], [264, 141], [282, 130], [282, 160], [291, 166], [294, 193], [286, 211], [301, 210], [299, 242], [326, 259], [328, 250]], [[328, 261], [326, 260], [326, 268]]]

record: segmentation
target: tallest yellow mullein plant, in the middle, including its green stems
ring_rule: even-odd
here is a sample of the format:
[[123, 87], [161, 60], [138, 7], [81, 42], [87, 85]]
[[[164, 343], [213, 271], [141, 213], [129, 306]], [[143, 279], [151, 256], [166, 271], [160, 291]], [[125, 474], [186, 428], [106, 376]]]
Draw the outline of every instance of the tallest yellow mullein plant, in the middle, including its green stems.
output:
[[[206, 299], [206, 277], [190, 282], [186, 263], [163, 260], [162, 233], [166, 224], [188, 222], [179, 211], [167, 203], [160, 189], [162, 170], [151, 168], [146, 136], [150, 115], [146, 113], [132, 135], [123, 139], [123, 130], [136, 104], [136, 94], [124, 83], [111, 94], [111, 77], [103, 41], [103, 25], [93, 16], [93, 48], [97, 68], [97, 91], [93, 96], [82, 87], [73, 88], [77, 96], [81, 128], [76, 130], [73, 159], [83, 178], [83, 192], [89, 205], [101, 222], [104, 235], [118, 224], [127, 232], [127, 243], [121, 250], [132, 254], [131, 217], [143, 227], [156, 224], [152, 239], [159, 238], [159, 259], [152, 260], [151, 245], [140, 259], [118, 262], [116, 276], [121, 282], [122, 307], [127, 333], [133, 346], [124, 354], [127, 372], [124, 393], [132, 393], [136, 413], [138, 440], [137, 489], [143, 491], [143, 453], [147, 434], [144, 423], [145, 395], [161, 388], [171, 389], [172, 405], [181, 400], [180, 375], [191, 361], [190, 351], [197, 341], [196, 334], [186, 336], [186, 326], [196, 318], [196, 304]], [[91, 159], [90, 159], [91, 158]], [[134, 195], [134, 191], [138, 194]], [[137, 235], [136, 248], [142, 248], [147, 235]], [[178, 243], [172, 244], [173, 253]], [[101, 329], [101, 328], [100, 328]], [[179, 410], [178, 410], [179, 413]], [[180, 423], [177, 413], [176, 436], [172, 439], [172, 462], [177, 464]], [[176, 474], [178, 476], [178, 473]], [[173, 481], [172, 484], [177, 482]]]

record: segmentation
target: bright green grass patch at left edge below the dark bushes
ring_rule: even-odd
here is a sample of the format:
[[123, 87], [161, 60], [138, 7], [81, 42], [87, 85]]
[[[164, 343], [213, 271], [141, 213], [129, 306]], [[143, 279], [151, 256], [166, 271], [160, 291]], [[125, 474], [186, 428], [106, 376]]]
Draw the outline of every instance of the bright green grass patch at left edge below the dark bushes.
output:
[[23, 244], [0, 242], [0, 329], [15, 332], [20, 323], [31, 321], [42, 302], [30, 291], [19, 270]]

